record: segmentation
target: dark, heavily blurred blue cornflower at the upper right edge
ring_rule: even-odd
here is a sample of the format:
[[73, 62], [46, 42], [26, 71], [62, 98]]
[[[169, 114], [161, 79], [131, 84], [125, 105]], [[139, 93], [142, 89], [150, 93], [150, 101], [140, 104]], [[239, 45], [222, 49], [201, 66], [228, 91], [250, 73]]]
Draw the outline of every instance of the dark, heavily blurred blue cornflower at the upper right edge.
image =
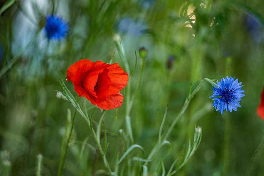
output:
[[260, 19], [254, 14], [248, 14], [245, 19], [246, 28], [249, 31], [252, 40], [257, 43], [264, 41], [263, 37], [263, 25]]

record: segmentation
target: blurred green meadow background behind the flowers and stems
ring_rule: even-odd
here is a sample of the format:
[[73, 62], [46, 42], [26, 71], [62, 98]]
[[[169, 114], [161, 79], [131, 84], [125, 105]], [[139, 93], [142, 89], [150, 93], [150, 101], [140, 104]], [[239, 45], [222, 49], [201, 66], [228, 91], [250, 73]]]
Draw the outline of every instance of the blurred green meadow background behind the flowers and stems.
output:
[[[5, 1], [0, 1], [2, 6]], [[158, 140], [158, 130], [168, 103], [164, 129], [180, 111], [192, 81], [204, 77], [221, 80], [230, 75], [242, 82], [245, 97], [237, 111], [230, 113], [229, 175], [244, 175], [254, 151], [263, 139], [264, 122], [256, 114], [264, 85], [264, 4], [260, 0], [76, 0], [15, 2], [0, 16], [0, 69], [23, 51], [17, 62], [0, 79], [0, 150], [11, 162], [11, 175], [35, 175], [36, 156], [43, 155], [43, 175], [56, 175], [60, 147], [65, 133], [68, 101], [58, 99], [59, 81], [67, 69], [80, 59], [109, 62], [116, 51], [113, 34], [124, 44], [130, 68], [135, 51], [147, 48], [142, 85], [131, 111], [135, 144], [147, 154]], [[69, 24], [65, 39], [48, 40], [40, 21], [49, 14], [61, 16]], [[170, 58], [170, 59], [169, 59]], [[118, 54], [114, 61], [124, 68]], [[130, 77], [132, 90], [139, 73]], [[169, 64], [169, 66], [168, 66]], [[72, 82], [65, 82], [74, 96]], [[202, 127], [202, 142], [195, 155], [178, 175], [221, 175], [224, 117], [213, 109], [212, 86], [205, 83], [175, 126], [170, 138], [172, 153], [164, 161], [168, 170], [180, 155], [188, 135], [193, 139], [195, 125]], [[123, 91], [121, 91], [123, 93]], [[124, 96], [125, 97], [125, 96]], [[84, 98], [80, 98], [82, 105]], [[119, 135], [125, 129], [125, 103], [107, 110], [106, 129]], [[87, 101], [88, 112], [94, 106]], [[98, 121], [100, 110], [94, 119]], [[90, 130], [77, 115], [75, 145], [69, 148], [64, 175], [90, 175], [94, 155], [85, 149], [78, 161], [81, 145]], [[114, 166], [116, 139], [108, 138], [108, 158]], [[92, 137], [90, 144], [95, 144]], [[7, 152], [9, 154], [7, 154]], [[165, 151], [164, 151], [165, 154]], [[8, 155], [8, 156], [6, 156]], [[263, 175], [263, 154], [254, 175]], [[96, 170], [105, 169], [102, 158]]]

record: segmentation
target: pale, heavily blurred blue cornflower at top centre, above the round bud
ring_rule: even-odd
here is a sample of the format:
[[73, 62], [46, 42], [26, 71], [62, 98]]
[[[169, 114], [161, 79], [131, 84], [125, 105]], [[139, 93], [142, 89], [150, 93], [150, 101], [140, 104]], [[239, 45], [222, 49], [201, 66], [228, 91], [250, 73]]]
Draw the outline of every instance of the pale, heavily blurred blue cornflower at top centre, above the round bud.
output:
[[117, 23], [117, 30], [120, 33], [129, 33], [134, 36], [139, 36], [147, 30], [147, 25], [143, 21], [134, 21], [129, 17], [125, 17]]

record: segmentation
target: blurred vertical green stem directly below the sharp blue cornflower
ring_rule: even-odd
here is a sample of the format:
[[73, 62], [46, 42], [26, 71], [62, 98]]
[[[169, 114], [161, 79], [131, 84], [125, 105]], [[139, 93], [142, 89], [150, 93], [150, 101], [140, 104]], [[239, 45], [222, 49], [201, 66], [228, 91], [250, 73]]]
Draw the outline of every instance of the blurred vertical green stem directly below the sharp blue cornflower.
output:
[[230, 141], [230, 115], [229, 113], [225, 116], [224, 125], [224, 146], [223, 146], [223, 170], [222, 175], [228, 174], [229, 167], [229, 141]]

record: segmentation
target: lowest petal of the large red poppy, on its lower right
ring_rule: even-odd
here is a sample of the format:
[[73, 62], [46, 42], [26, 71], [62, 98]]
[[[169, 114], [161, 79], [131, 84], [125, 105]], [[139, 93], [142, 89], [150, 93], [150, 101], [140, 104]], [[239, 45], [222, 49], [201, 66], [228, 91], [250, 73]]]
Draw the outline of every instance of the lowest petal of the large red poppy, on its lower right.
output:
[[123, 95], [118, 92], [115, 95], [110, 95], [104, 99], [100, 99], [96, 105], [101, 109], [114, 109], [116, 107], [120, 107], [123, 102]]

